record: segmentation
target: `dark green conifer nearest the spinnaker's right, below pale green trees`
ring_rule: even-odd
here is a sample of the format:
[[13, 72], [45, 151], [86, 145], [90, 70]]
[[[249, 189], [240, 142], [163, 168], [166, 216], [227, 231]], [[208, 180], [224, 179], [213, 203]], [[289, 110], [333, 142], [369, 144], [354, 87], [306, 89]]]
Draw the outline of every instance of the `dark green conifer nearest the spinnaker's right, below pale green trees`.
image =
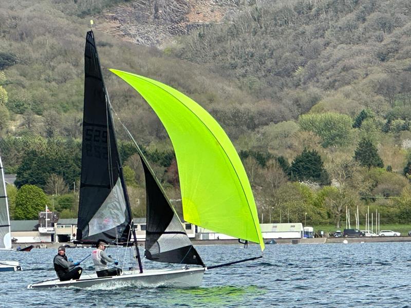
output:
[[327, 170], [316, 150], [304, 149], [296, 156], [290, 166], [290, 179], [293, 181], [313, 181], [322, 185], [330, 184]]

